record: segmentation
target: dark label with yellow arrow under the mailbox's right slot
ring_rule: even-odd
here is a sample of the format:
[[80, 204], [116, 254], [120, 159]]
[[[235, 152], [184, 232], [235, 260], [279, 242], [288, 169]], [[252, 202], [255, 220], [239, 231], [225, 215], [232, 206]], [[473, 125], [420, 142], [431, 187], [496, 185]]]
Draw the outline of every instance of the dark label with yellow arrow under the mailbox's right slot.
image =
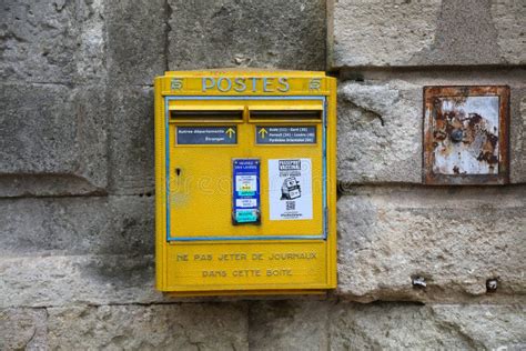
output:
[[316, 143], [314, 126], [256, 126], [255, 142], [259, 144]]

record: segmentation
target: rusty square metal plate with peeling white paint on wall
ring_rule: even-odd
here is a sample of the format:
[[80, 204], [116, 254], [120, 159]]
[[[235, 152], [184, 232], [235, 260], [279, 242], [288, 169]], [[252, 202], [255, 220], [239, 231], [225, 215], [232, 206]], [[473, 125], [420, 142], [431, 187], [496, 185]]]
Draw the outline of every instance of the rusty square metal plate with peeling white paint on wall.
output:
[[424, 87], [424, 183], [508, 182], [509, 87]]

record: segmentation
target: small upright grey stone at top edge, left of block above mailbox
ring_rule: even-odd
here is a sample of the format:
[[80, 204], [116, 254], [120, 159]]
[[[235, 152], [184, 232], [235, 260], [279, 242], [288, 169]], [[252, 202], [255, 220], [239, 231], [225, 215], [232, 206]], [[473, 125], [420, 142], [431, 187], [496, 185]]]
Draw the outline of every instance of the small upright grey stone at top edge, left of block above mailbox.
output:
[[107, 1], [105, 12], [112, 86], [152, 86], [168, 69], [165, 1]]

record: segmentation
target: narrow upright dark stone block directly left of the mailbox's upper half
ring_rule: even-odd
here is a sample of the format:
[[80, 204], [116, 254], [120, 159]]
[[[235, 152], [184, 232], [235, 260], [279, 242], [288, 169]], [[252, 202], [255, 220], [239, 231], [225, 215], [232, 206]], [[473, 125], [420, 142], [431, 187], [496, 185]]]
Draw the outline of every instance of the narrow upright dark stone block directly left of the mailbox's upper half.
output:
[[113, 90], [110, 131], [110, 192], [154, 191], [153, 89]]

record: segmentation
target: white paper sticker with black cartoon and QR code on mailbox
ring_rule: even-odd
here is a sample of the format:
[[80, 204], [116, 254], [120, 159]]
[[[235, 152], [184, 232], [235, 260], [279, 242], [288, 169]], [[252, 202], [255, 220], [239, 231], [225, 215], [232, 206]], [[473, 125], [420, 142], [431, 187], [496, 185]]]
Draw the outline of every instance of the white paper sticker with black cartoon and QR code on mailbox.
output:
[[269, 160], [272, 221], [312, 219], [311, 159]]

